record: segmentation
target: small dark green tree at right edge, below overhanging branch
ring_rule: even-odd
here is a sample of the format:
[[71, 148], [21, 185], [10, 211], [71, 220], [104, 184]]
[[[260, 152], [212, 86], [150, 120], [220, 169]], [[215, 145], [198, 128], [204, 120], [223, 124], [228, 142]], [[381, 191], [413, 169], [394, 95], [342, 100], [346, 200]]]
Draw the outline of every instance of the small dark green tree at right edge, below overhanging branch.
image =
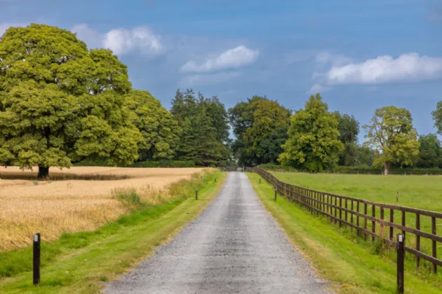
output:
[[435, 134], [419, 137], [419, 160], [417, 167], [433, 168], [442, 166], [442, 148]]

